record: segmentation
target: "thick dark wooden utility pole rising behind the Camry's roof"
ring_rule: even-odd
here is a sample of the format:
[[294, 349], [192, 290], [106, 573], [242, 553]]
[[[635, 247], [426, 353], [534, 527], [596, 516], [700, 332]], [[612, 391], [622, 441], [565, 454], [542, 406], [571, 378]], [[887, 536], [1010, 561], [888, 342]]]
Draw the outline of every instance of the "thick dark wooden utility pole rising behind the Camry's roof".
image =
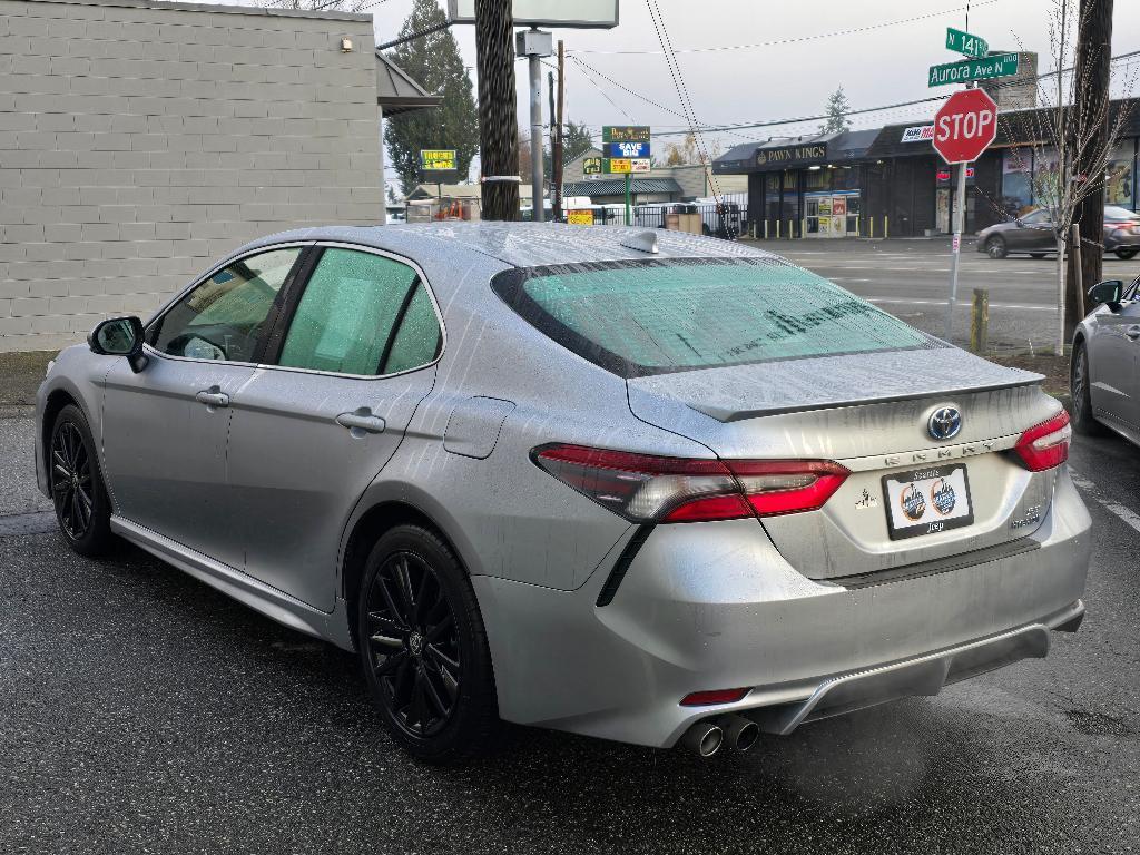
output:
[[511, 0], [475, 0], [482, 219], [519, 215], [519, 120], [514, 105]]

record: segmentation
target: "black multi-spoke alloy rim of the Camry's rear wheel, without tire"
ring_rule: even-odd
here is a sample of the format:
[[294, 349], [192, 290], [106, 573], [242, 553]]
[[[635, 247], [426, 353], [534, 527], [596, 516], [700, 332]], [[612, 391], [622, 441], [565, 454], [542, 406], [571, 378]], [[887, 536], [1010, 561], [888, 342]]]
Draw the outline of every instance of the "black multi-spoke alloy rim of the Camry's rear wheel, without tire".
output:
[[420, 739], [438, 734], [455, 712], [463, 654], [455, 614], [423, 557], [384, 560], [368, 592], [368, 624], [369, 661], [397, 725]]

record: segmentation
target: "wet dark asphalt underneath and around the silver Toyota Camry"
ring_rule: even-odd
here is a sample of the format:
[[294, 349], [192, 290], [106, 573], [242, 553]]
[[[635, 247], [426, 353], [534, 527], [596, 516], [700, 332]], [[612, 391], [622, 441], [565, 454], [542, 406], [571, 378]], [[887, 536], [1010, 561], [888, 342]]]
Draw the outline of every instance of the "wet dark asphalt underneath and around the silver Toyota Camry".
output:
[[136, 549], [0, 534], [0, 852], [1135, 852], [1140, 463], [1081, 439], [1073, 467], [1089, 616], [1048, 659], [707, 762], [518, 728], [421, 766], [352, 657]]

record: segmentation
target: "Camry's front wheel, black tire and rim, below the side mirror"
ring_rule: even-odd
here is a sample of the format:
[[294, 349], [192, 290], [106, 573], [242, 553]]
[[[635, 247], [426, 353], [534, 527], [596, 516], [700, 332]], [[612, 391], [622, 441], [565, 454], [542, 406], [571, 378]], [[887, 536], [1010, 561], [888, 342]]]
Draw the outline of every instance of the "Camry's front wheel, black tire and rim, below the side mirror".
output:
[[60, 409], [44, 449], [48, 488], [59, 534], [87, 557], [106, 555], [115, 545], [111, 498], [95, 448], [83, 410], [74, 404]]

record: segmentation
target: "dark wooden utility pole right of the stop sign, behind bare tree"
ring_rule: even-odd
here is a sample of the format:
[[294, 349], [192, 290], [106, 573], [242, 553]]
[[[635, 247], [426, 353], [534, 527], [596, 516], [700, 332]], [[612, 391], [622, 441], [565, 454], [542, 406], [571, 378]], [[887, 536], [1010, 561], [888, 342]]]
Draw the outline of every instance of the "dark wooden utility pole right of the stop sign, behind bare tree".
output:
[[[1076, 85], [1077, 103], [1073, 105], [1076, 111], [1076, 121], [1070, 122], [1073, 127], [1085, 128], [1092, 132], [1091, 139], [1084, 146], [1078, 146], [1072, 141], [1070, 149], [1078, 158], [1083, 153], [1089, 160], [1096, 160], [1097, 153], [1101, 152], [1108, 144], [1108, 124], [1110, 121], [1108, 112], [1109, 100], [1109, 58], [1112, 56], [1113, 42], [1113, 0], [1081, 0], [1081, 11], [1078, 14], [1080, 28], [1076, 39], [1076, 62], [1074, 63], [1074, 80]], [[1091, 117], [1104, 116], [1105, 121], [1092, 125]], [[1065, 132], [1062, 130], [1062, 132]], [[1092, 169], [1089, 163], [1075, 162], [1073, 164], [1073, 177], [1084, 180], [1098, 180], [1098, 176], [1091, 174]], [[1104, 250], [1100, 244], [1105, 241], [1105, 187], [1100, 181], [1100, 188], [1085, 197], [1077, 206], [1075, 220], [1080, 227], [1082, 252], [1069, 253], [1068, 282], [1065, 296], [1065, 340], [1073, 339], [1073, 331], [1085, 315], [1084, 294], [1090, 287], [1100, 282], [1104, 276]], [[1081, 275], [1077, 276], [1076, 264], [1081, 264]], [[1075, 287], [1075, 283], [1081, 283], [1082, 288]]]

